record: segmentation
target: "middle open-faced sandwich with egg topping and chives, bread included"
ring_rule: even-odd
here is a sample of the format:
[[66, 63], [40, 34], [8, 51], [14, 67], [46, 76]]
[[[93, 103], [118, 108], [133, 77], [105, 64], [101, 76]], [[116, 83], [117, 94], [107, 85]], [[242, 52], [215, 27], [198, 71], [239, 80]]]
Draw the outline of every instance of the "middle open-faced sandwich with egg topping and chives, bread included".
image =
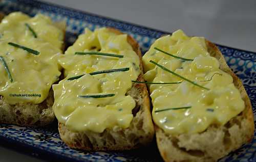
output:
[[58, 59], [53, 85], [61, 139], [84, 150], [127, 150], [150, 143], [154, 127], [136, 41], [115, 29], [89, 29]]

